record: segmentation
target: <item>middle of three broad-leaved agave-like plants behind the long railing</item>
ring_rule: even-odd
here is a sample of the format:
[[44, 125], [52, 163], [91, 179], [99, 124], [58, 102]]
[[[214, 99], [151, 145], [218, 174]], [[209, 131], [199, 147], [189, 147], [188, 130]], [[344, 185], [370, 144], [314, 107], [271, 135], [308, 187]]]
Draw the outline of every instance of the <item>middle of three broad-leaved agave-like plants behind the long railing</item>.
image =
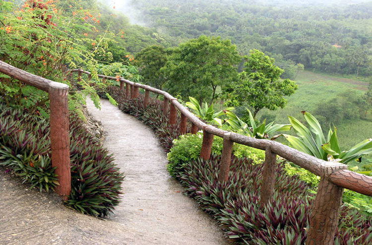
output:
[[274, 121], [266, 124], [266, 119], [263, 120], [261, 124], [257, 126], [254, 121], [253, 115], [248, 108], [246, 108], [249, 113], [249, 123], [251, 127], [248, 127], [248, 124], [242, 121], [235, 113], [231, 111], [226, 111], [225, 114], [229, 117], [226, 122], [234, 130], [243, 130], [244, 133], [250, 137], [257, 139], [268, 139], [270, 135], [277, 131], [289, 131], [291, 129], [290, 124], [274, 124]]

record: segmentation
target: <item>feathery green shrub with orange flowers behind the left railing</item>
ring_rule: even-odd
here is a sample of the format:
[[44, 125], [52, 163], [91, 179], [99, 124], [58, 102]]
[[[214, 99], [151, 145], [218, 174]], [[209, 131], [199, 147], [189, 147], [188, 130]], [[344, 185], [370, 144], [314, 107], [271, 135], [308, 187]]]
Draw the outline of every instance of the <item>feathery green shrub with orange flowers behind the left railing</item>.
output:
[[[7, 3], [8, 4], [8, 3]], [[87, 67], [95, 77], [94, 56], [102, 48], [103, 37], [88, 37], [99, 20], [95, 4], [89, 10], [77, 2], [32, 1], [3, 8], [0, 12], [0, 59], [35, 75], [68, 84], [67, 69]], [[81, 81], [82, 94], [96, 96], [89, 83]], [[73, 91], [73, 87], [71, 87]], [[45, 92], [7, 76], [0, 76], [0, 95], [7, 105], [44, 114], [49, 101]], [[69, 108], [79, 109], [83, 97], [69, 96]]]

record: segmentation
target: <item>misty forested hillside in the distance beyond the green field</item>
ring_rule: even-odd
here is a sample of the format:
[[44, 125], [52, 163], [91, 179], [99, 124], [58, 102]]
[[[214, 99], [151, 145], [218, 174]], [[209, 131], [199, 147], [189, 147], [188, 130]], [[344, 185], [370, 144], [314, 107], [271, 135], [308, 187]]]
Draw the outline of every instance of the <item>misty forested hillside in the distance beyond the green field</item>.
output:
[[221, 36], [241, 54], [264, 51], [287, 71], [302, 63], [321, 72], [370, 75], [372, 2], [350, 2], [358, 1], [132, 0], [130, 6], [141, 23], [171, 36], [173, 45], [203, 34]]

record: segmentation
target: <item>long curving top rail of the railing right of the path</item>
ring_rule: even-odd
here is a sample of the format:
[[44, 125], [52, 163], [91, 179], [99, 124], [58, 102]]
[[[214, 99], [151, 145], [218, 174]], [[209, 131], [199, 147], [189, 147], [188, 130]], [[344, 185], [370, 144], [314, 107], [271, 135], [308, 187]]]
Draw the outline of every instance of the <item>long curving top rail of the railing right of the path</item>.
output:
[[[80, 71], [85, 74], [90, 74], [90, 72], [83, 71], [82, 69], [71, 70], [70, 72]], [[117, 80], [117, 77], [98, 75], [100, 78]], [[312, 172], [313, 174], [321, 177], [329, 178], [334, 184], [347, 188], [349, 190], [372, 196], [372, 177], [359, 174], [353, 171], [348, 170], [347, 165], [339, 163], [337, 161], [324, 161], [322, 159], [311, 156], [307, 153], [299, 151], [295, 148], [285, 146], [281, 143], [270, 141], [270, 140], [260, 140], [251, 138], [248, 136], [240, 135], [233, 132], [228, 132], [219, 128], [216, 128], [212, 125], [202, 122], [198, 117], [191, 113], [185, 106], [177, 101], [177, 98], [174, 98], [165, 91], [152, 88], [148, 85], [143, 85], [139, 83], [133, 83], [124, 78], [119, 78], [120, 81], [125, 82], [126, 84], [139, 87], [150, 92], [163, 95], [164, 98], [169, 99], [171, 103], [183, 113], [188, 120], [190, 120], [197, 127], [205, 130], [207, 133], [219, 136], [223, 138], [224, 134], [231, 133], [230, 140], [232, 142], [242, 144], [249, 147], [254, 147], [258, 149], [265, 150], [270, 147], [271, 151], [295, 164], [305, 168]]]

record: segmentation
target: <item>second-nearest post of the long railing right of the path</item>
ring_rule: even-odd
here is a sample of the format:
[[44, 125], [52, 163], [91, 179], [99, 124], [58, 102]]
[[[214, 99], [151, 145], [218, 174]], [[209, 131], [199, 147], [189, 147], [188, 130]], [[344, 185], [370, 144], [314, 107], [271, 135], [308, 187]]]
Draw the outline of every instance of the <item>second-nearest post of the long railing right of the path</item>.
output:
[[263, 174], [260, 195], [260, 207], [263, 208], [274, 194], [274, 184], [276, 175], [276, 154], [270, 147], [266, 148], [265, 161], [263, 163]]

